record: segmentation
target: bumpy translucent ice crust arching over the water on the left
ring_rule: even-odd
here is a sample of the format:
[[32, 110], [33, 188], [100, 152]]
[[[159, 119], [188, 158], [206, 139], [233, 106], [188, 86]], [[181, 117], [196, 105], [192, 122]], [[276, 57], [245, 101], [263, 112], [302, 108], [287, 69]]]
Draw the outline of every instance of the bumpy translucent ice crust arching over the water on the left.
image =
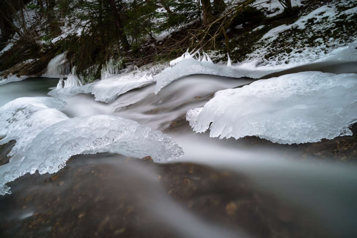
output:
[[5, 183], [36, 170], [57, 172], [72, 155], [113, 152], [160, 163], [183, 155], [169, 136], [136, 121], [114, 115], [69, 119], [58, 110], [64, 106], [61, 99], [34, 97], [0, 108], [0, 144], [16, 140], [10, 162], [0, 166], [0, 195], [10, 193]]

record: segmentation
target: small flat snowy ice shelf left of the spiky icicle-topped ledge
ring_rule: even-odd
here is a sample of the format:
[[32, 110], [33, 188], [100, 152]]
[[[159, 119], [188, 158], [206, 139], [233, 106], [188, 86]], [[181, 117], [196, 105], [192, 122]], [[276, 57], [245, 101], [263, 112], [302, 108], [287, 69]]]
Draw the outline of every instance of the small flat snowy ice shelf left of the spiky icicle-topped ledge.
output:
[[146, 73], [145, 71], [135, 71], [116, 74], [84, 86], [57, 87], [48, 94], [61, 98], [63, 95], [73, 96], [79, 93], [91, 93], [94, 94], [96, 101], [111, 103], [121, 94], [154, 83], [154, 78]]

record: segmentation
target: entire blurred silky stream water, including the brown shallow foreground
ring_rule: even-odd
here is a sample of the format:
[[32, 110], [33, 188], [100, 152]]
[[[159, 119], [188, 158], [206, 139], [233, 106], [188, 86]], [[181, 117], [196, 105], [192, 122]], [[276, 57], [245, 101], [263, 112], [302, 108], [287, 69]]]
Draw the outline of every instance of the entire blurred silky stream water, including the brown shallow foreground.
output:
[[[328, 70], [343, 73], [342, 66]], [[135, 89], [110, 104], [88, 94], [65, 98], [62, 111], [69, 117], [113, 114], [132, 119], [170, 135], [185, 155], [165, 165], [119, 155], [80, 155], [54, 175], [21, 177], [11, 182], [11, 195], [0, 197], [0, 233], [356, 237], [355, 164], [305, 156], [314, 145], [219, 140], [191, 130], [187, 110], [202, 107], [218, 90], [252, 81], [198, 75], [174, 81], [157, 95], [153, 85]], [[17, 97], [45, 96], [56, 83], [28, 78], [2, 85], [0, 106]]]

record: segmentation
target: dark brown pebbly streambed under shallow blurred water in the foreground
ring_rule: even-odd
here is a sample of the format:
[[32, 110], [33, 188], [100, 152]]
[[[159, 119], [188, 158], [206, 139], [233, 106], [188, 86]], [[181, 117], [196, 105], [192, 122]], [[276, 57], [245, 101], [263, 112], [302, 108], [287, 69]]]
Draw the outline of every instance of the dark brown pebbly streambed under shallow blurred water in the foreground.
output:
[[196, 164], [81, 155], [9, 186], [2, 237], [329, 237], [248, 177]]

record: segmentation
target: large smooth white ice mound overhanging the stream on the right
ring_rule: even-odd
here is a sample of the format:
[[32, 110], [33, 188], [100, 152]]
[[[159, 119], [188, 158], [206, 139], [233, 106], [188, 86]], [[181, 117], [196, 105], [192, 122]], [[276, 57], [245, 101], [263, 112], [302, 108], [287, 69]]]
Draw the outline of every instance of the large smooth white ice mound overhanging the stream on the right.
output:
[[357, 74], [301, 72], [221, 90], [202, 109], [188, 111], [187, 120], [194, 131], [210, 128], [220, 139], [255, 135], [293, 144], [352, 135]]

